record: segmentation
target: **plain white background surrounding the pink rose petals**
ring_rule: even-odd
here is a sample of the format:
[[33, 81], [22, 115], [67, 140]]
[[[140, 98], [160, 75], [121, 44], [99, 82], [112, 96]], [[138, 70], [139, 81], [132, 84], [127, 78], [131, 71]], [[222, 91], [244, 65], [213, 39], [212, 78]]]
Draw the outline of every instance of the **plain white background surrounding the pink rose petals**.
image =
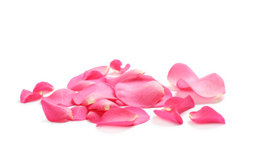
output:
[[[1, 1], [1, 158], [255, 158], [255, 1]], [[87, 120], [49, 122], [22, 89], [56, 89], [119, 59], [192, 94], [196, 106], [177, 125], [145, 109], [134, 127]], [[169, 86], [177, 62], [200, 78], [217, 73], [227, 93], [215, 101]], [[49, 95], [49, 94], [47, 94]], [[195, 124], [190, 111], [211, 106], [226, 124]], [[159, 109], [159, 108], [158, 108]]]

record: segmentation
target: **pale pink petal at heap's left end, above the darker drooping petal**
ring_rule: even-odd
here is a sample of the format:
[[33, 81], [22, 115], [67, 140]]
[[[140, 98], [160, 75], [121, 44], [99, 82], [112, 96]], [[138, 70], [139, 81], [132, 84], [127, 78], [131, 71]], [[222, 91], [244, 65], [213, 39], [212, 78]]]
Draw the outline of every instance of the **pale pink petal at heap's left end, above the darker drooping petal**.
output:
[[42, 99], [55, 105], [72, 106], [75, 105], [75, 103], [73, 102], [74, 95], [76, 95], [75, 91], [63, 88], [56, 90], [48, 97], [42, 97]]

